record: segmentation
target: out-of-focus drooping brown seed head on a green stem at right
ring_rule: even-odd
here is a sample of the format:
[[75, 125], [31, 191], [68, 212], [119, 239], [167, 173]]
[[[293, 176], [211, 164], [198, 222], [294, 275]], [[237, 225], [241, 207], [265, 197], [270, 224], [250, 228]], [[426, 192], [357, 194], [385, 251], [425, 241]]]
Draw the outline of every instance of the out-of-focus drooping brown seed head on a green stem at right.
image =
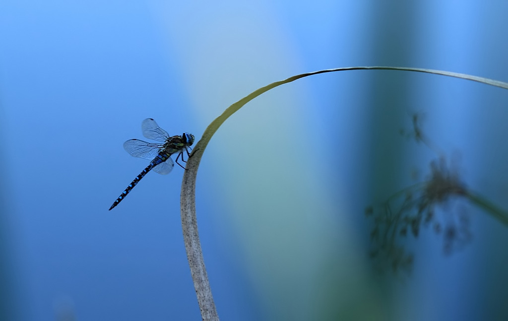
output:
[[464, 207], [451, 205], [454, 200], [463, 200], [479, 206], [508, 226], [508, 212], [493, 205], [485, 197], [473, 192], [461, 180], [458, 162], [447, 159], [422, 131], [419, 114], [414, 114], [412, 131], [401, 134], [414, 138], [436, 152], [430, 162], [427, 179], [406, 187], [392, 195], [383, 204], [369, 206], [365, 214], [373, 219], [370, 232], [372, 250], [370, 256], [376, 269], [393, 272], [409, 272], [414, 262], [414, 253], [406, 248], [409, 237], [418, 238], [422, 228], [429, 228], [441, 236], [443, 252], [451, 254], [462, 248], [471, 239], [469, 216]]

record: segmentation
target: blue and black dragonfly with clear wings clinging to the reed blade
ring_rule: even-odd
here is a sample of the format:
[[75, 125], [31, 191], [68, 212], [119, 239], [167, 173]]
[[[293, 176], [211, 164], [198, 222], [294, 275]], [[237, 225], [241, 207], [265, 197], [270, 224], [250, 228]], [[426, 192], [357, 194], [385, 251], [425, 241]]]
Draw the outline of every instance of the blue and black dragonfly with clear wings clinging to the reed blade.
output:
[[183, 159], [183, 152], [185, 151], [187, 153], [187, 157], [190, 156], [188, 149], [194, 143], [194, 135], [183, 133], [181, 136], [169, 136], [169, 134], [159, 127], [152, 118], [143, 120], [141, 123], [141, 130], [144, 137], [161, 143], [148, 143], [139, 139], [130, 139], [123, 143], [123, 148], [131, 156], [150, 159], [151, 162], [138, 176], [136, 176], [132, 183], [122, 191], [122, 194], [120, 194], [109, 208], [110, 211], [129, 194], [134, 186], [136, 186], [149, 171], [153, 170], [155, 173], [162, 175], [169, 174], [175, 166], [173, 159], [171, 159], [171, 155], [178, 153], [175, 161], [176, 164], [183, 169], [185, 168], [178, 163], [178, 158], [181, 158], [182, 162], [187, 163]]

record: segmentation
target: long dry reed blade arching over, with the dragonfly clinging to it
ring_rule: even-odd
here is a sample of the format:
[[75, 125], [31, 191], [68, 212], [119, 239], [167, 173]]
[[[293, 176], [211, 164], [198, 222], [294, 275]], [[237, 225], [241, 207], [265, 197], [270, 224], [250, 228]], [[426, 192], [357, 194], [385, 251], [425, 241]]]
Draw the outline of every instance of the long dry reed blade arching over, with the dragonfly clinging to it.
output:
[[[190, 267], [190, 273], [193, 277], [194, 287], [196, 290], [196, 295], [198, 298], [199, 307], [201, 310], [201, 316], [203, 320], [218, 320], [218, 314], [215, 307], [215, 303], [213, 301], [213, 296], [210, 288], [210, 283], [208, 281], [208, 275], [205, 269], [205, 263], [203, 260], [203, 253], [201, 250], [201, 244], [199, 240], [198, 233], [198, 225], [196, 219], [196, 177], [198, 173], [199, 164], [201, 162], [201, 157], [208, 145], [208, 142], [212, 138], [213, 134], [219, 129], [220, 125], [226, 121], [231, 115], [233, 115], [236, 111], [238, 111], [241, 107], [243, 107], [246, 103], [255, 99], [262, 93], [273, 89], [277, 86], [287, 84], [298, 80], [300, 78], [331, 73], [331, 72], [341, 72], [341, 71], [353, 71], [353, 70], [392, 70], [392, 71], [410, 71], [410, 72], [419, 72], [419, 73], [427, 73], [427, 74], [435, 74], [442, 75], [454, 78], [461, 78], [471, 81], [476, 81], [496, 87], [501, 87], [504, 89], [508, 89], [508, 83], [492, 80], [483, 77], [471, 76], [466, 74], [452, 73], [447, 71], [440, 70], [430, 70], [430, 69], [421, 69], [421, 68], [406, 68], [406, 67], [345, 67], [345, 68], [337, 68], [337, 69], [328, 69], [328, 70], [320, 70], [311, 73], [305, 73], [290, 77], [285, 80], [273, 82], [265, 87], [259, 88], [252, 93], [248, 94], [246, 97], [242, 98], [238, 102], [232, 104], [229, 108], [227, 108], [223, 114], [214, 119], [210, 125], [206, 128], [203, 133], [202, 138], [196, 144], [196, 147], [189, 157], [187, 161], [186, 171], [183, 174], [182, 180], [182, 189], [180, 196], [180, 213], [182, 220], [182, 230], [183, 230], [183, 239], [185, 244], [185, 250], [187, 252], [187, 260]], [[344, 108], [347, 108], [344, 106]], [[439, 173], [443, 174], [443, 173]], [[446, 176], [444, 176], [446, 178]], [[455, 186], [455, 185], [454, 185]], [[428, 186], [431, 187], [430, 185]], [[429, 190], [430, 191], [430, 190]], [[428, 200], [427, 208], [431, 208], [437, 199], [440, 197], [445, 197], [446, 195], [436, 194], [435, 190], [431, 190], [433, 194], [427, 195]], [[437, 198], [437, 199], [436, 199]], [[422, 203], [424, 204], [424, 203]], [[417, 222], [423, 220], [423, 213], [425, 212], [424, 208], [422, 210], [422, 218], [417, 217]], [[401, 223], [397, 223], [401, 224]], [[412, 225], [417, 225], [417, 223], [413, 223]], [[395, 229], [398, 231], [399, 229]], [[403, 255], [402, 255], [403, 256]]]

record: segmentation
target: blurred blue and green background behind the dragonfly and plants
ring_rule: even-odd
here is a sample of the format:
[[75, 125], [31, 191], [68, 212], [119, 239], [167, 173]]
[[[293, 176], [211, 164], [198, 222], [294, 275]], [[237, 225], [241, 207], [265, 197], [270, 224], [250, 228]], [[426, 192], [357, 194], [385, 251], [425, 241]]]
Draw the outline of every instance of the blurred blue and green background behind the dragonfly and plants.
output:
[[[149, 173], [122, 144], [154, 118], [193, 133], [292, 75], [348, 66], [508, 81], [508, 2], [0, 2], [0, 319], [197, 320], [183, 170]], [[508, 92], [447, 77], [348, 71], [277, 87], [208, 145], [197, 181], [222, 320], [505, 320], [508, 229], [467, 201], [471, 240], [411, 240], [410, 273], [369, 258], [369, 205], [438, 156], [508, 209]], [[457, 156], [458, 155], [458, 156]]]

